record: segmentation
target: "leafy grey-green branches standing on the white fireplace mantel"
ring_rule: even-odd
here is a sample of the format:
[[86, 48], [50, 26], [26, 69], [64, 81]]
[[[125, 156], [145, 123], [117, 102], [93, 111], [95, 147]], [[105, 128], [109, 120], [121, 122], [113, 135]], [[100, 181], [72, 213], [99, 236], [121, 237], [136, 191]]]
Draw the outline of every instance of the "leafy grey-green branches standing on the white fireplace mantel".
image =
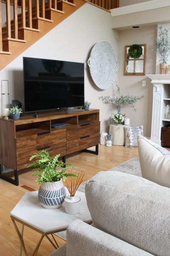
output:
[[170, 55], [170, 29], [162, 29], [158, 27], [159, 37], [155, 41], [156, 49], [154, 52], [161, 55], [160, 61], [166, 63], [168, 56]]

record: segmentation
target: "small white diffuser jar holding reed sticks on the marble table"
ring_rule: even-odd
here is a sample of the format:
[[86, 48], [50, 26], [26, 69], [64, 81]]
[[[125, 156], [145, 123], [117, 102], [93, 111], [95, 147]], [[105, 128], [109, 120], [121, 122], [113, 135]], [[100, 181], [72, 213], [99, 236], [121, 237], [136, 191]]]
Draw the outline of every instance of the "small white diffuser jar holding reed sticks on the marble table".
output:
[[80, 211], [80, 201], [79, 196], [67, 196], [64, 199], [65, 212], [68, 214], [76, 214]]

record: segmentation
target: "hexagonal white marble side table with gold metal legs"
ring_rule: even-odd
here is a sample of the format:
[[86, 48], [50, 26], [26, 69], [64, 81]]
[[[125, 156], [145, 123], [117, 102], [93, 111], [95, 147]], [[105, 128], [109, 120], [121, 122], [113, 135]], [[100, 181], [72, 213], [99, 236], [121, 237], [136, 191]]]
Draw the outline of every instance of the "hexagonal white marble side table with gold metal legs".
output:
[[[67, 189], [66, 192], [68, 196], [69, 193]], [[28, 255], [23, 239], [24, 226], [36, 230], [41, 234], [41, 238], [35, 247], [34, 252], [32, 253], [32, 256], [35, 256], [44, 236], [51, 242], [54, 248], [57, 249], [58, 244], [54, 238], [54, 233], [66, 230], [68, 225], [76, 219], [80, 219], [86, 223], [92, 223], [91, 215], [87, 207], [85, 193], [77, 191], [76, 195], [81, 198], [81, 206], [80, 212], [75, 215], [67, 214], [63, 205], [58, 209], [43, 208], [38, 199], [38, 191], [28, 192], [20, 199], [20, 201], [11, 211], [11, 219], [21, 243], [20, 255], [22, 255], [22, 249], [24, 250], [26, 256]], [[21, 232], [17, 227], [17, 222], [23, 224]], [[49, 237], [49, 235], [51, 235], [52, 239]]]

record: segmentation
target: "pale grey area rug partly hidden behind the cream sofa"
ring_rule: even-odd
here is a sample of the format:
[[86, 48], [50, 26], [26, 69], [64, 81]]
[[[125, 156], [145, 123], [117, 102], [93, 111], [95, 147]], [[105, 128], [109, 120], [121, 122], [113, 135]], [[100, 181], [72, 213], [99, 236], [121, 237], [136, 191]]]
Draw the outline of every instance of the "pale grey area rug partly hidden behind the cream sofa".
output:
[[[119, 171], [119, 172], [125, 172], [130, 173], [139, 177], [142, 177], [141, 175], [141, 167], [139, 163], [139, 159], [132, 158], [125, 163], [122, 163], [116, 167], [113, 167], [112, 169], [108, 171]], [[82, 182], [82, 184], [79, 186], [80, 192], [85, 192], [85, 184], [88, 182], [88, 180]], [[64, 239], [66, 241], [66, 231], [61, 231], [55, 234], [56, 236], [59, 236], [60, 238]]]

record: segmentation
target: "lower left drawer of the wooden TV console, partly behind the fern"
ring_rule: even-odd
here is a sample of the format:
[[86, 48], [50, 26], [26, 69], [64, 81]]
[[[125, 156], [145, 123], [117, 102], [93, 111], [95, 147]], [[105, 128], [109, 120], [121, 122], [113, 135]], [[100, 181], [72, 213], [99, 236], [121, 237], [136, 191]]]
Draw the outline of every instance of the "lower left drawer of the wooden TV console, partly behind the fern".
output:
[[[64, 156], [66, 154], [65, 151], [66, 143], [59, 143], [56, 145], [51, 145], [45, 148], [46, 151], [50, 153], [51, 158], [53, 158], [55, 155], [60, 154], [61, 156]], [[41, 148], [43, 150], [43, 148]], [[33, 161], [30, 161], [30, 157], [41, 150], [33, 150], [29, 151], [23, 154], [17, 154], [17, 170], [24, 169], [27, 167], [27, 165]]]

